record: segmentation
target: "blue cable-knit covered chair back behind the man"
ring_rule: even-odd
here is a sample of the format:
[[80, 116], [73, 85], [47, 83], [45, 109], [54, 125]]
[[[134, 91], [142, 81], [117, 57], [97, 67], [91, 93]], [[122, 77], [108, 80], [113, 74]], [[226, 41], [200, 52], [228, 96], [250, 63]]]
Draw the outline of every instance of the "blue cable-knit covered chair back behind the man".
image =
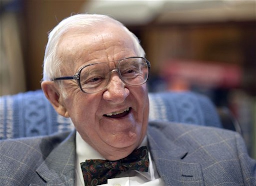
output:
[[[209, 98], [192, 92], [149, 93], [149, 120], [222, 127]], [[48, 135], [73, 129], [42, 90], [0, 97], [0, 139]]]

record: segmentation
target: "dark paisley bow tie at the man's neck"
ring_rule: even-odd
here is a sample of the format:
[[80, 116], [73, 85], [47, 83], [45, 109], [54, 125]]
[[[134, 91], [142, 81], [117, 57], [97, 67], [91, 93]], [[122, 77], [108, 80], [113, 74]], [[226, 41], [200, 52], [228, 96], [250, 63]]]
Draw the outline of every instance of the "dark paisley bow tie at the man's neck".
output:
[[140, 147], [129, 156], [117, 161], [86, 160], [81, 163], [85, 186], [94, 186], [107, 183], [121, 172], [129, 169], [148, 172], [148, 149]]

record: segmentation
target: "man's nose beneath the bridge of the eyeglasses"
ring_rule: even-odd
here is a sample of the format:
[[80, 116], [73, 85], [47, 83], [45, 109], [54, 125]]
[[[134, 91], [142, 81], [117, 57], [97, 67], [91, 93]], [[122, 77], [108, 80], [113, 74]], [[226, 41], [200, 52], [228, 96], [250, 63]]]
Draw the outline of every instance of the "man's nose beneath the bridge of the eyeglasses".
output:
[[112, 74], [107, 89], [103, 93], [103, 99], [110, 101], [112, 104], [121, 104], [129, 94], [129, 89], [125, 87], [119, 76]]

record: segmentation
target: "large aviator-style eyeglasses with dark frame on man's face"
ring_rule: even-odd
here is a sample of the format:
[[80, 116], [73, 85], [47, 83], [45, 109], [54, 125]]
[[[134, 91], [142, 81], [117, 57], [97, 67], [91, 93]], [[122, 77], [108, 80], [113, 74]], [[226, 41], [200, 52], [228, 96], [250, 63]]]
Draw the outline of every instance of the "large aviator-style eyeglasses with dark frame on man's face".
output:
[[98, 62], [83, 66], [74, 76], [53, 78], [56, 80], [76, 80], [84, 93], [95, 93], [105, 89], [116, 71], [127, 85], [142, 85], [148, 80], [150, 62], [143, 57], [128, 57], [118, 60], [116, 69], [110, 69], [108, 63]]

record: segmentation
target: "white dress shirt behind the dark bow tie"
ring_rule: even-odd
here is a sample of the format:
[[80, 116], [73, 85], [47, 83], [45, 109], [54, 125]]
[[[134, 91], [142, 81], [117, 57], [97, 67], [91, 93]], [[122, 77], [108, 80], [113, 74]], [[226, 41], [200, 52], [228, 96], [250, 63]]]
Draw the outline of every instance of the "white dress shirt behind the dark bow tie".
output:
[[[146, 136], [139, 147], [147, 145], [148, 142]], [[164, 185], [162, 178], [160, 178], [157, 173], [156, 165], [150, 156], [150, 152], [148, 152], [148, 158], [148, 172], [128, 170], [121, 173], [116, 178], [108, 179], [108, 183], [103, 185]], [[76, 186], [84, 186], [84, 178], [80, 163], [89, 159], [106, 160], [94, 148], [87, 144], [78, 132], [76, 132]]]

